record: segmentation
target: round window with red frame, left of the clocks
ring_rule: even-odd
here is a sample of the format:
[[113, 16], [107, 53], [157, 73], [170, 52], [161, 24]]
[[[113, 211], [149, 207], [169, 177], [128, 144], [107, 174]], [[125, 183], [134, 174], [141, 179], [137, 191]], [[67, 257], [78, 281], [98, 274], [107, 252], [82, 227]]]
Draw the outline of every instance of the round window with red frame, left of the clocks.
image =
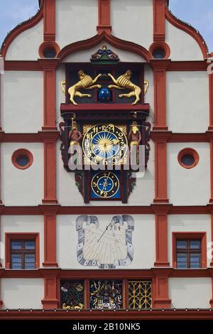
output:
[[33, 163], [33, 154], [27, 149], [18, 149], [12, 154], [12, 163], [18, 169], [26, 169]]

